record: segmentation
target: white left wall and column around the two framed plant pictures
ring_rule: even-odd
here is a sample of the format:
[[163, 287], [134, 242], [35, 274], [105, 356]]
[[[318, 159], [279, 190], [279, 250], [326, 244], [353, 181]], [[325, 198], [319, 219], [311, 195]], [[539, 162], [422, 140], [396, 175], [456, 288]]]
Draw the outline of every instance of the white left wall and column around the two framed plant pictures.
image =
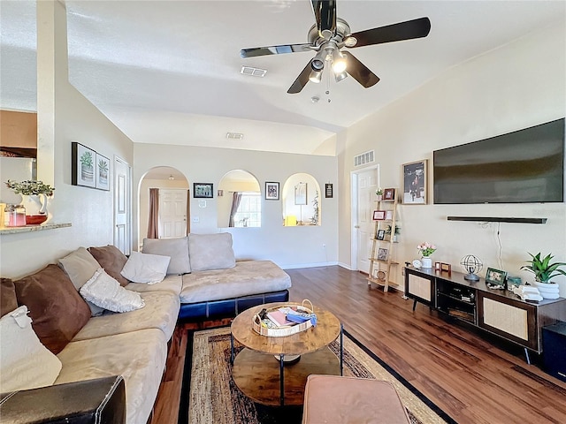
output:
[[[12, 278], [41, 269], [79, 246], [112, 244], [112, 192], [71, 186], [72, 141], [111, 158], [111, 163], [114, 155], [129, 163], [133, 159], [132, 141], [68, 82], [64, 6], [39, 2], [38, 13], [42, 25], [51, 23], [56, 35], [54, 44], [41, 37], [37, 43], [38, 57], [51, 57], [47, 64], [38, 58], [38, 121], [43, 121], [38, 128], [38, 150], [43, 150], [38, 152], [38, 178], [56, 188], [51, 221], [73, 226], [0, 236], [0, 274]], [[54, 159], [49, 162], [49, 157]], [[2, 178], [7, 177], [3, 172]]]

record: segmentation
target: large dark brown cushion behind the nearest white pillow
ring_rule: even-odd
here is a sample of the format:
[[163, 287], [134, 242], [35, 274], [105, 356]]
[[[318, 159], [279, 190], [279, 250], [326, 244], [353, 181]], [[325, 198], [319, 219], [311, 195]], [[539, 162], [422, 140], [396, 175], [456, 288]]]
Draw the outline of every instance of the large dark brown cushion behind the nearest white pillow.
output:
[[57, 355], [88, 322], [90, 308], [63, 269], [50, 264], [14, 281], [18, 304], [26, 305], [35, 334]]

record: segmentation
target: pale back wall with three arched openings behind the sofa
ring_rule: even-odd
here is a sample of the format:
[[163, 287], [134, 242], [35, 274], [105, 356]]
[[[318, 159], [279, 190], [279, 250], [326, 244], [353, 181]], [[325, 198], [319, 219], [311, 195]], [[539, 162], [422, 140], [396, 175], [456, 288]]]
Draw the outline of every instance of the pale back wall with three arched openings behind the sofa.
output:
[[[279, 181], [280, 188], [289, 176], [308, 172], [319, 185], [337, 181], [337, 158], [317, 155], [293, 155], [238, 149], [194, 148], [152, 144], [134, 145], [134, 187], [147, 170], [155, 166], [171, 166], [180, 170], [188, 181], [214, 184], [214, 198], [191, 199], [191, 232], [218, 232], [217, 190], [220, 179], [230, 170], [247, 170], [258, 181], [264, 198], [265, 181]], [[137, 193], [134, 193], [134, 199]], [[226, 197], [226, 192], [225, 192]], [[338, 260], [338, 204], [340, 193], [333, 199], [321, 198], [322, 225], [283, 227], [281, 201], [263, 203], [261, 228], [231, 228], [233, 246], [238, 259], [270, 259], [283, 268], [336, 263]], [[134, 210], [134, 216], [138, 211]], [[137, 246], [137, 234], [134, 246]], [[142, 237], [142, 236], [141, 236]], [[325, 247], [323, 247], [325, 245]]]

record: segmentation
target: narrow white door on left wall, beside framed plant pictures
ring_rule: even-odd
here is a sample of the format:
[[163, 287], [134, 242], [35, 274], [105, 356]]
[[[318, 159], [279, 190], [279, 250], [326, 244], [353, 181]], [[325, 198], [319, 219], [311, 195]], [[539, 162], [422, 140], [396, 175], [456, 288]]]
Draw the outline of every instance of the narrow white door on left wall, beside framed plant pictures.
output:
[[114, 158], [114, 246], [123, 254], [131, 254], [132, 250], [130, 172], [130, 165]]

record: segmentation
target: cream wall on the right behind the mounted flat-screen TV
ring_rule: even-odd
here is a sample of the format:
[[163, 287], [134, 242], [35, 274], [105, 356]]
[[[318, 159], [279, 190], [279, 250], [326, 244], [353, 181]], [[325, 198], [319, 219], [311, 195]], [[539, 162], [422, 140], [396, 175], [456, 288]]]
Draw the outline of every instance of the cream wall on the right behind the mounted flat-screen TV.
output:
[[[376, 149], [381, 186], [402, 185], [402, 163], [428, 159], [432, 151], [486, 139], [566, 115], [566, 34], [548, 27], [501, 49], [455, 66], [417, 91], [348, 128], [340, 155], [340, 178], [347, 178], [354, 155]], [[429, 167], [430, 168], [430, 167]], [[432, 194], [432, 170], [429, 169]], [[349, 197], [349, 193], [348, 193]], [[430, 197], [432, 199], [432, 196]], [[348, 202], [348, 199], [342, 201]], [[341, 212], [344, 211], [344, 214]], [[428, 205], [400, 207], [402, 235], [398, 261], [417, 258], [416, 246], [438, 246], [433, 261], [451, 263], [474, 254], [486, 267], [531, 279], [520, 267], [533, 254], [566, 261], [564, 203]], [[547, 217], [544, 225], [448, 222], [447, 216]], [[340, 209], [340, 261], [350, 263], [350, 215]], [[499, 233], [499, 234], [498, 234]], [[501, 262], [499, 260], [501, 243]], [[398, 267], [401, 268], [401, 267]], [[402, 281], [398, 269], [396, 281]], [[566, 278], [555, 278], [566, 296]]]

